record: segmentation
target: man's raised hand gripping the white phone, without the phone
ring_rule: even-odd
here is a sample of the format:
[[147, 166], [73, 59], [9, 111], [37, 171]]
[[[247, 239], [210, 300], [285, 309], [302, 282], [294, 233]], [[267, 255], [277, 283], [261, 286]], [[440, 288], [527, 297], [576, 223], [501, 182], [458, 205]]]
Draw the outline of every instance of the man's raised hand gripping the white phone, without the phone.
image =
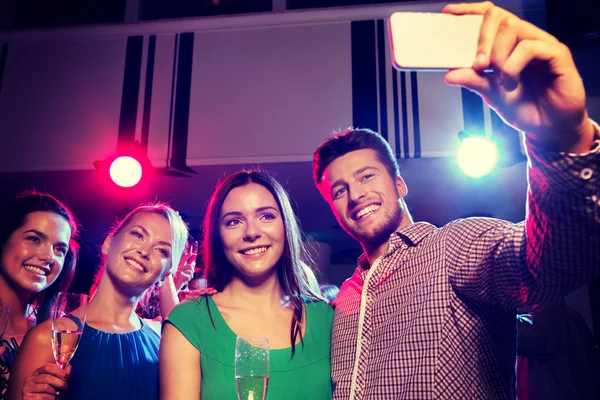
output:
[[[594, 127], [566, 45], [491, 2], [451, 4], [443, 12], [484, 15], [473, 67], [449, 71], [446, 83], [478, 93], [508, 124], [548, 150], [590, 150]], [[483, 72], [487, 69], [493, 72]]]

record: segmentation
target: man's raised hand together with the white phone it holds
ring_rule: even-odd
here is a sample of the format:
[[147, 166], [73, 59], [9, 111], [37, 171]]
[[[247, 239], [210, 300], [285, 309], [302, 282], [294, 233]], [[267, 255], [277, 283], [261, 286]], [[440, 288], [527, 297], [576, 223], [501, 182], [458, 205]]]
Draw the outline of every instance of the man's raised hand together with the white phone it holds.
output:
[[476, 92], [542, 147], [590, 150], [594, 127], [566, 45], [491, 2], [450, 4], [442, 12], [390, 17], [394, 66], [450, 70], [446, 83]]

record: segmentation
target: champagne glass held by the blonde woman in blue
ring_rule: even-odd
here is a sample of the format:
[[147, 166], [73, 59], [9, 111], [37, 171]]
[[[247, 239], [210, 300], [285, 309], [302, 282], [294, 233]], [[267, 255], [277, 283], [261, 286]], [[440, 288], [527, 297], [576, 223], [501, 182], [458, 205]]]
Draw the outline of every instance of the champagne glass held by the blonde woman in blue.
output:
[[88, 296], [59, 293], [52, 307], [52, 351], [56, 365], [65, 369], [75, 355], [85, 326]]

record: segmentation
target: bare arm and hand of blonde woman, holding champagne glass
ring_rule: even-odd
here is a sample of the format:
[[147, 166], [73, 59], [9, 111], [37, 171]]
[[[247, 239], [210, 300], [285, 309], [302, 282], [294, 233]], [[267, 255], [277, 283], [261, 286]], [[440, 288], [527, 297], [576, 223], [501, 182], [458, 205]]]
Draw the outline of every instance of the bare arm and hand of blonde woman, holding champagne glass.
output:
[[57, 392], [67, 390], [70, 367], [60, 369], [52, 354], [51, 321], [32, 328], [19, 348], [10, 370], [8, 400], [54, 400]]

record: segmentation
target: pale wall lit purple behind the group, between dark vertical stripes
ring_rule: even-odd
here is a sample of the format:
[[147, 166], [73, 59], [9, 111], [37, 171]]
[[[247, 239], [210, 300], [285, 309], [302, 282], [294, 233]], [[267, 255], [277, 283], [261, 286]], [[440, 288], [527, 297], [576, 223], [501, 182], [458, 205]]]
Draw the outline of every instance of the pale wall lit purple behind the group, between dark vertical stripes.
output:
[[[520, 11], [520, 1], [504, 1]], [[124, 110], [127, 40], [143, 37], [135, 137], [141, 137], [145, 79], [154, 74], [148, 153], [166, 164], [173, 140], [180, 39], [193, 33], [188, 165], [308, 161], [332, 129], [353, 124], [351, 23], [380, 20], [396, 10], [439, 11], [443, 3], [403, 4], [269, 15], [158, 21], [44, 31], [2, 32], [8, 44], [0, 91], [0, 130], [7, 137], [0, 172], [89, 169], [114, 152]], [[387, 26], [387, 24], [385, 24]], [[151, 38], [155, 60], [148, 62]], [[154, 40], [154, 39], [152, 39]], [[385, 91], [388, 117], [378, 126], [395, 128], [387, 33]], [[379, 62], [379, 60], [378, 60]], [[373, 71], [376, 78], [379, 72]], [[407, 76], [407, 131], [413, 146], [412, 102], [418, 96], [422, 156], [448, 156], [463, 128], [460, 89], [441, 74], [419, 74], [417, 93]], [[400, 89], [398, 89], [400, 90]], [[174, 100], [175, 99], [175, 100]], [[132, 101], [129, 99], [129, 101]], [[379, 102], [379, 99], [377, 100]], [[378, 107], [383, 107], [378, 104]], [[185, 114], [185, 113], [184, 113]], [[489, 111], [486, 111], [489, 115]], [[421, 117], [426, 116], [426, 117]], [[489, 118], [488, 118], [489, 119]], [[390, 142], [396, 138], [390, 136]], [[33, 144], [33, 146], [32, 146]], [[402, 149], [406, 150], [406, 149]], [[413, 151], [412, 147], [409, 153]], [[27, 157], [22, 157], [27, 154]], [[412, 153], [411, 153], [412, 155]]]

